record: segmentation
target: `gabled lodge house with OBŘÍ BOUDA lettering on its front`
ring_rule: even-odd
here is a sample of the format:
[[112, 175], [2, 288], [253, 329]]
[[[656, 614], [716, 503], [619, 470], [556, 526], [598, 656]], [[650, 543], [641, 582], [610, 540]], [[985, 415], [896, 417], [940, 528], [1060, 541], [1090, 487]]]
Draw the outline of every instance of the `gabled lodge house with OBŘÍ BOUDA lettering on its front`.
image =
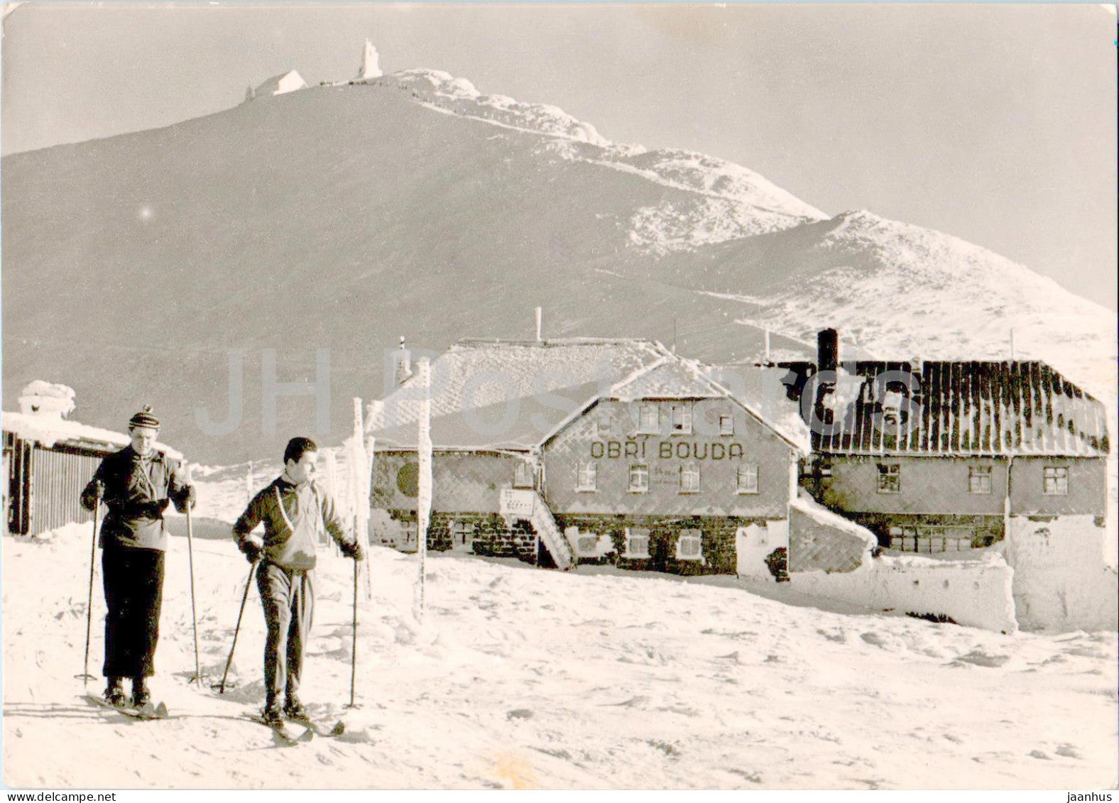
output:
[[[414, 547], [416, 422], [402, 382], [372, 416], [373, 507]], [[807, 429], [765, 421], [646, 340], [464, 340], [431, 367], [432, 549], [568, 567], [769, 571], [788, 546]], [[411, 542], [410, 542], [411, 539]], [[771, 557], [772, 556], [772, 557]]]

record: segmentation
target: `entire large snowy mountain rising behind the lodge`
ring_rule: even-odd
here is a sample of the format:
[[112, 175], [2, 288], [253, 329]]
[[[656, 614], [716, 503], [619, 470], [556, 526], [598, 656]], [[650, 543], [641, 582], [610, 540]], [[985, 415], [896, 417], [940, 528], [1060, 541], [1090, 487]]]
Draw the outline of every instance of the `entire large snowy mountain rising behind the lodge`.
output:
[[545, 337], [717, 361], [756, 356], [767, 327], [783, 353], [833, 325], [866, 353], [977, 358], [1007, 355], [1013, 328], [1019, 353], [1115, 388], [1115, 314], [1003, 257], [828, 218], [746, 168], [615, 144], [435, 70], [257, 93], [2, 167], [4, 407], [36, 378], [74, 387], [91, 424], [150, 403], [206, 462], [311, 429], [314, 399], [279, 399], [273, 429], [261, 389], [325, 378], [319, 349], [318, 434], [337, 442], [351, 397], [391, 381], [397, 336], [532, 337], [536, 305]]

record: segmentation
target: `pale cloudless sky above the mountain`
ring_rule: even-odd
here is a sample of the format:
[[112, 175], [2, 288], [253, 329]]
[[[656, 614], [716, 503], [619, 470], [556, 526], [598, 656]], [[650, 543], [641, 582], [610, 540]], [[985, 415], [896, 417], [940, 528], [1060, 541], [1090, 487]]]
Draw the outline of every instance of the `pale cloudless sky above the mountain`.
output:
[[1116, 17], [1083, 6], [36, 3], [4, 154], [228, 108], [288, 69], [429, 67], [615, 142], [743, 164], [828, 214], [947, 232], [1116, 308]]

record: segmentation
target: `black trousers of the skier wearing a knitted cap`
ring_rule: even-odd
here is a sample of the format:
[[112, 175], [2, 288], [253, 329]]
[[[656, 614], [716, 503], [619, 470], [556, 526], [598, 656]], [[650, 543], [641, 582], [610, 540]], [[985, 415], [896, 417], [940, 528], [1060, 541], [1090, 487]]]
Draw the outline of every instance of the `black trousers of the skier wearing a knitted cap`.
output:
[[159, 611], [163, 602], [163, 552], [107, 545], [101, 552], [105, 586], [107, 678], [156, 674]]

